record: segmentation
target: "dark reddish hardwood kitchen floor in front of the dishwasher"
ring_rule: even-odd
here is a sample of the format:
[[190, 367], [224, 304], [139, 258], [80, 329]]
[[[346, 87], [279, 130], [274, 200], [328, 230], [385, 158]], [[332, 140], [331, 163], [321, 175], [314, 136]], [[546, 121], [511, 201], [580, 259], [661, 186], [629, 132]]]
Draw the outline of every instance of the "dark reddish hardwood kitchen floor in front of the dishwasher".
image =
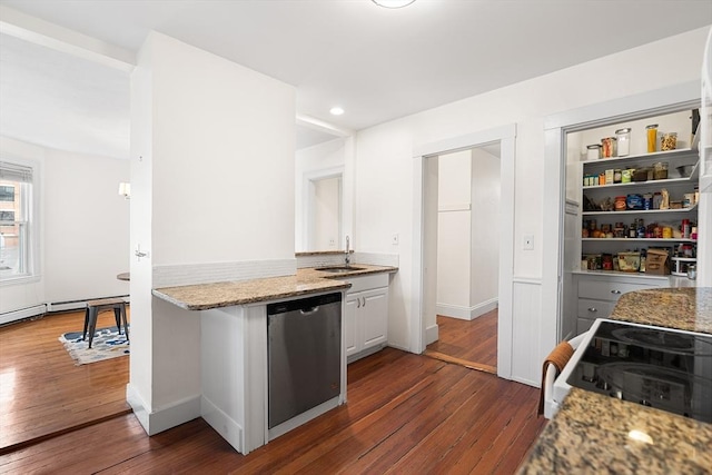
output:
[[537, 395], [386, 348], [348, 366], [348, 404], [247, 456], [201, 418], [147, 437], [123, 415], [0, 456], [0, 472], [511, 474], [545, 424]]

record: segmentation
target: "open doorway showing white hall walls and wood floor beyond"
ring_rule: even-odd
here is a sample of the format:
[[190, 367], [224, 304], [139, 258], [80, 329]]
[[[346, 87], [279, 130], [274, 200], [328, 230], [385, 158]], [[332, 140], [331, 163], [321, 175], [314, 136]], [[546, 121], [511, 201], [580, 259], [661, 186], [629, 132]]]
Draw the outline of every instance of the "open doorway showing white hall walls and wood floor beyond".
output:
[[496, 374], [500, 142], [437, 158], [438, 339], [425, 354]]

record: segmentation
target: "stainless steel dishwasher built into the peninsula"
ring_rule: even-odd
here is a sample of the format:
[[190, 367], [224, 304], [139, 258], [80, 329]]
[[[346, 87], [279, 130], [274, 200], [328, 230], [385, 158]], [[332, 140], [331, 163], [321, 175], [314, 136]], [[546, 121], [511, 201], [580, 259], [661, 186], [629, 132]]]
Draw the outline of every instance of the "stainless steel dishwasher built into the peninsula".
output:
[[267, 305], [268, 428], [340, 392], [342, 294]]

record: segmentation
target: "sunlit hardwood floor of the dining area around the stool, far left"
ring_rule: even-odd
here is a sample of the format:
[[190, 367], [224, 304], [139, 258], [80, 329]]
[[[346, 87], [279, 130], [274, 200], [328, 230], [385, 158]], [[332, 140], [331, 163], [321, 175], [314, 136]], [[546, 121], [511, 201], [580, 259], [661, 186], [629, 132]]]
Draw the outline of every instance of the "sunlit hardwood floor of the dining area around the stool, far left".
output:
[[[129, 358], [75, 366], [58, 340], [81, 331], [83, 318], [83, 310], [50, 314], [0, 327], [0, 454], [130, 413]], [[113, 325], [113, 313], [99, 314], [97, 328]]]

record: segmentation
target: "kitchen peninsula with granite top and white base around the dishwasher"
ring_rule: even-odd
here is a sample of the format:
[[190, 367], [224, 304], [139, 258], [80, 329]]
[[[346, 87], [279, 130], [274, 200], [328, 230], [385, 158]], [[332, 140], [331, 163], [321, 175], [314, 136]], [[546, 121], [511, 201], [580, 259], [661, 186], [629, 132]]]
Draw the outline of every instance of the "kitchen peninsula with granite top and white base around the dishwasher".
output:
[[[269, 382], [274, 376], [269, 370], [268, 358], [269, 342], [271, 342], [268, 330], [268, 307], [274, 307], [275, 303], [293, 303], [304, 297], [327, 296], [333, 297], [332, 301], [338, 301], [337, 308], [343, 309], [344, 306], [340, 303], [345, 299], [346, 290], [352, 288], [349, 279], [359, 281], [359, 279], [383, 276], [387, 286], [386, 274], [395, 273], [397, 268], [357, 264], [352, 268], [342, 265], [338, 270], [338, 273], [329, 273], [317, 268], [299, 268], [294, 276], [152, 290], [156, 298], [199, 313], [200, 415], [241, 454], [246, 455], [275, 437], [346, 402], [345, 342], [348, 329], [347, 324], [342, 324], [342, 318], [337, 317], [340, 335], [336, 333], [334, 336], [333, 330], [327, 330], [332, 340], [334, 337], [337, 338], [335, 348], [337, 356], [329, 358], [332, 362], [338, 358], [337, 367], [340, 367], [340, 385], [336, 383], [339, 380], [338, 377], [332, 384], [337, 392], [317, 406], [307, 406], [308, 409], [295, 412], [294, 414], [297, 415], [288, 420], [268, 425]], [[337, 295], [334, 295], [335, 293]], [[319, 304], [310, 304], [309, 311], [303, 310], [301, 315], [318, 310], [319, 307], [312, 307], [312, 305]], [[343, 311], [338, 315], [343, 315]], [[274, 348], [280, 348], [278, 350], [280, 354], [285, 353], [279, 345]], [[288, 345], [284, 348], [286, 350]], [[277, 382], [286, 380], [287, 387], [304, 384], [304, 380], [294, 374], [280, 373], [276, 377], [280, 378]]]

